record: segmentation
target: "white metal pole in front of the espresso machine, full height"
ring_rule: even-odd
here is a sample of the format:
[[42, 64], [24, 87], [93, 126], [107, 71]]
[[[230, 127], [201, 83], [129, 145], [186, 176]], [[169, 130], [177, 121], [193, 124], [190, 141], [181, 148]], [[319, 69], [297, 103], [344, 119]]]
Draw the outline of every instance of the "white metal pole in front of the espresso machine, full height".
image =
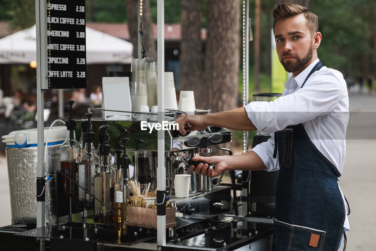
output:
[[[157, 56], [158, 56], [158, 123], [164, 120], [164, 0], [157, 1]], [[166, 167], [165, 167], [165, 139], [164, 130], [158, 131], [158, 167], [157, 187], [158, 192], [165, 192], [166, 189]], [[164, 205], [163, 205], [164, 206]], [[166, 215], [157, 215], [157, 245], [166, 245]]]

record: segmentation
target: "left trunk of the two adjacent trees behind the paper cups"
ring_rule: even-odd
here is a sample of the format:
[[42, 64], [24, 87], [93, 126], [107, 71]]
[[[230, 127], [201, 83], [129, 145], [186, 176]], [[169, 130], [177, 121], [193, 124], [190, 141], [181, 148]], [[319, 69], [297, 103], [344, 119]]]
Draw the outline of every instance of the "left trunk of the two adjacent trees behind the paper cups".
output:
[[[202, 81], [202, 40], [201, 40], [202, 0], [182, 0], [182, 23], [180, 40], [180, 90], [197, 90]], [[196, 96], [196, 102], [199, 102]]]

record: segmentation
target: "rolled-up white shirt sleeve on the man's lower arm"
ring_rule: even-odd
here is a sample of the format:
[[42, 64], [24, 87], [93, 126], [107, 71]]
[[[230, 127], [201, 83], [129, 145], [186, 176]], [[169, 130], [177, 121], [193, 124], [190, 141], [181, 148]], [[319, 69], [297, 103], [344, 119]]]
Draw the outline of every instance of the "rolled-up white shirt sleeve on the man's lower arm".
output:
[[276, 171], [279, 169], [278, 152], [277, 157], [273, 158], [274, 152], [274, 133], [267, 142], [262, 142], [252, 148], [250, 151], [255, 152], [264, 162], [268, 172]]

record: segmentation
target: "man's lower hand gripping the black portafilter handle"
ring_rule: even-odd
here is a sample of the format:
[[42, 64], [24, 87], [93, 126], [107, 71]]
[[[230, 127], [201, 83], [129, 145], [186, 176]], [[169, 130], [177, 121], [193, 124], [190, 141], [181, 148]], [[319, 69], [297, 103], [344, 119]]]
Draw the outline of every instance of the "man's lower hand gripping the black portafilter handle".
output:
[[214, 164], [215, 165], [214, 170], [212, 168], [209, 168], [208, 170], [208, 167], [209, 167], [208, 164], [202, 164], [202, 163], [200, 163], [196, 167], [196, 169], [194, 166], [190, 167], [192, 172], [195, 172], [197, 174], [201, 174], [204, 176], [206, 175], [206, 176], [209, 176], [210, 178], [217, 177], [218, 175], [220, 175], [221, 173], [227, 170], [227, 163], [224, 161], [223, 156], [212, 156], [212, 157], [199, 156], [199, 157], [192, 158], [192, 160], [193, 161], [205, 161], [210, 164]]

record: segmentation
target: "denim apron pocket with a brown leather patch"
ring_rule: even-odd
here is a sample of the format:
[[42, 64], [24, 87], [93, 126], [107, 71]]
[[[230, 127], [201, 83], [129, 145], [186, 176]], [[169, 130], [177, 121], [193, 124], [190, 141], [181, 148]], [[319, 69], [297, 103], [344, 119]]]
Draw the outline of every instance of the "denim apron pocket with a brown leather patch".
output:
[[321, 251], [325, 231], [274, 220], [276, 251]]

